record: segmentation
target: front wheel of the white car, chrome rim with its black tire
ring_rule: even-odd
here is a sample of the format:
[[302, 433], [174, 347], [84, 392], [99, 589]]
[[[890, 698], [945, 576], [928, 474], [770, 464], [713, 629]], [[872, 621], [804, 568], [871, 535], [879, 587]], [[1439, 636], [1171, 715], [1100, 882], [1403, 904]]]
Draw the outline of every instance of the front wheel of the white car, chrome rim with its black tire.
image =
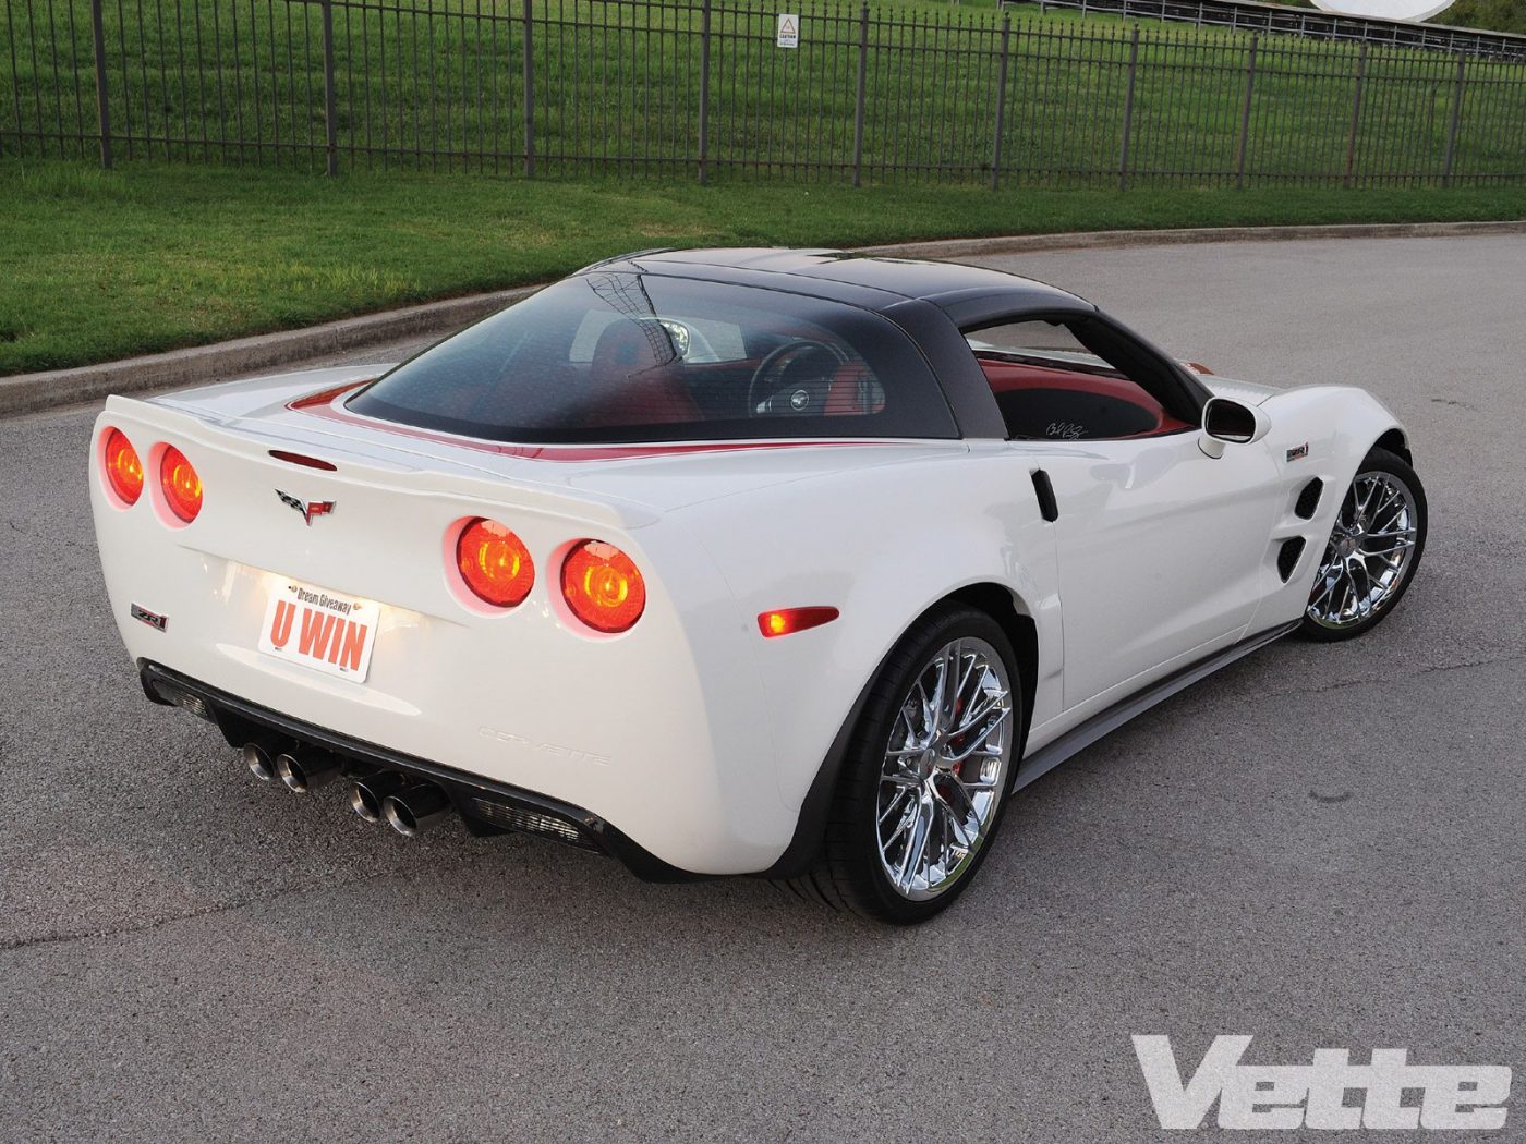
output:
[[1408, 589], [1425, 549], [1425, 490], [1405, 461], [1373, 448], [1346, 490], [1299, 635], [1351, 639]]

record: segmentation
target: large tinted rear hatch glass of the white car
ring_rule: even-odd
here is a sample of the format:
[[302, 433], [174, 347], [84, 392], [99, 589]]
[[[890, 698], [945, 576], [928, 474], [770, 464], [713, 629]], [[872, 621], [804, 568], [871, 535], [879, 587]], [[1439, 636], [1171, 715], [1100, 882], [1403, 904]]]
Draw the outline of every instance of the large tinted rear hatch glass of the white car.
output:
[[922, 354], [879, 314], [629, 272], [548, 287], [348, 409], [526, 444], [958, 435]]

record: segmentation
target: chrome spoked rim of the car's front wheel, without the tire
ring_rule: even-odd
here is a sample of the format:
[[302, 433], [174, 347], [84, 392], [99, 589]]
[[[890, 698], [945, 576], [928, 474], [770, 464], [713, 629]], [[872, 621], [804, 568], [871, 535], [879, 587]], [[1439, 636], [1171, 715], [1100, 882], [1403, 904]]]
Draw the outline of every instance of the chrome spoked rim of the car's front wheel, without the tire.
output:
[[1393, 473], [1358, 473], [1335, 516], [1308, 618], [1338, 631], [1381, 612], [1404, 587], [1418, 532], [1413, 490]]

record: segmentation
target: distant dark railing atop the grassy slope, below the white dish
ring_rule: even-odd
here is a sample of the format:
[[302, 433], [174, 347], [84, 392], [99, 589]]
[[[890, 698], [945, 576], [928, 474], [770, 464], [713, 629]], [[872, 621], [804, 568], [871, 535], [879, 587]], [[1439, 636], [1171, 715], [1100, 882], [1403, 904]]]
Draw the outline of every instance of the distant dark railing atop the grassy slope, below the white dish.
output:
[[1285, 32], [1312, 40], [1344, 40], [1373, 47], [1418, 47], [1462, 52], [1492, 59], [1526, 59], [1526, 35], [1477, 27], [1380, 20], [1376, 17], [1322, 12], [1317, 8], [1264, 5], [1256, 0], [1004, 0], [1015, 8], [1035, 5], [1041, 12], [1071, 9], [1082, 15], [1170, 20], [1195, 27], [1228, 27], [1236, 32]]

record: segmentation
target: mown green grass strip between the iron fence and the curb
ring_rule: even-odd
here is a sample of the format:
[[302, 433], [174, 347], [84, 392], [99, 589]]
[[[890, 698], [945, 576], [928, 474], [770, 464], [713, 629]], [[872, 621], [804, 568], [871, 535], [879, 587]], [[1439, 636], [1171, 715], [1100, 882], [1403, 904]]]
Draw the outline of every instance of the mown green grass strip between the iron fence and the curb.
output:
[[0, 374], [536, 282], [652, 246], [1526, 217], [1526, 191], [1129, 191], [327, 180], [0, 162]]

